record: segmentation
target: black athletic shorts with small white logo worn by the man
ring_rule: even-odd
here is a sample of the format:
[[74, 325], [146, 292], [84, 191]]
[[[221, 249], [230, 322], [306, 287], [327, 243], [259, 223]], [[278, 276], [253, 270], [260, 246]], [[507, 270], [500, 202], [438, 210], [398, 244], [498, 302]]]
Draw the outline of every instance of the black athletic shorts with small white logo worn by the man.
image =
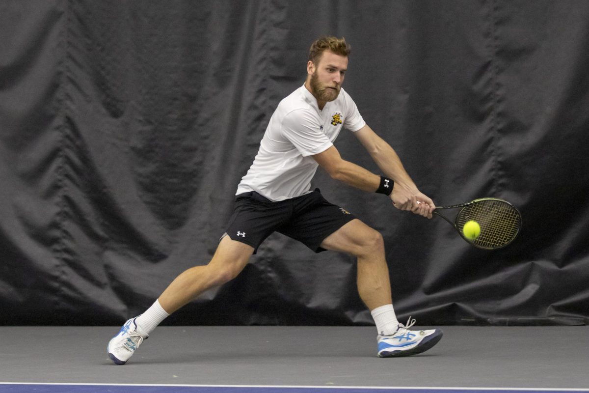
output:
[[236, 196], [226, 233], [232, 240], [254, 247], [254, 254], [273, 232], [322, 252], [323, 240], [355, 218], [348, 210], [327, 202], [319, 189], [279, 202], [252, 191]]

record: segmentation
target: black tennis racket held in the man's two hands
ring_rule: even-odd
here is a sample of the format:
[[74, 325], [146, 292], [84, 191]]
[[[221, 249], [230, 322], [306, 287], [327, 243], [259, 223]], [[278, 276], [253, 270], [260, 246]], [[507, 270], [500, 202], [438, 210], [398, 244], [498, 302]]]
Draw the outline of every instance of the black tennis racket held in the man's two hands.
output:
[[[439, 212], [458, 208], [462, 209], [456, 214], [454, 222]], [[513, 242], [521, 228], [521, 214], [517, 207], [498, 198], [479, 198], [452, 206], [438, 206], [434, 214], [450, 223], [466, 242], [485, 250], [507, 246]], [[476, 221], [481, 227], [481, 233], [476, 239], [468, 239], [462, 232], [464, 224], [470, 220]]]

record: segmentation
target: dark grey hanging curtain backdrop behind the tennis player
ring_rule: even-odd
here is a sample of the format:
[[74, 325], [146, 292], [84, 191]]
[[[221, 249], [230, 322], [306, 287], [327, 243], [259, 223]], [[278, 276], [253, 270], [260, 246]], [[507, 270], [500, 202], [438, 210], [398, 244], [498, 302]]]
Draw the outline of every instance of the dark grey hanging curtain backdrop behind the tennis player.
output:
[[[352, 45], [344, 87], [439, 205], [524, 227], [494, 252], [441, 219], [314, 186], [385, 237], [399, 319], [589, 321], [589, 2], [0, 1], [0, 324], [118, 325], [206, 264], [310, 42]], [[342, 131], [342, 156], [380, 173]], [[167, 319], [367, 325], [352, 257], [272, 235]]]

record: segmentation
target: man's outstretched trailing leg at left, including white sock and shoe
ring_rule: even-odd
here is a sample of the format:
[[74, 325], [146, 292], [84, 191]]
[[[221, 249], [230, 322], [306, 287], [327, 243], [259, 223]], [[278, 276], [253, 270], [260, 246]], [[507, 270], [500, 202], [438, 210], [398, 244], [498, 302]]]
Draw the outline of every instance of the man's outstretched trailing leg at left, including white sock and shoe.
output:
[[229, 236], [223, 237], [208, 265], [185, 270], [168, 285], [144, 314], [129, 319], [123, 325], [121, 331], [108, 343], [108, 356], [115, 364], [125, 364], [133, 356], [135, 349], [167, 315], [205, 290], [235, 278], [246, 266], [253, 252], [252, 246], [231, 240]]

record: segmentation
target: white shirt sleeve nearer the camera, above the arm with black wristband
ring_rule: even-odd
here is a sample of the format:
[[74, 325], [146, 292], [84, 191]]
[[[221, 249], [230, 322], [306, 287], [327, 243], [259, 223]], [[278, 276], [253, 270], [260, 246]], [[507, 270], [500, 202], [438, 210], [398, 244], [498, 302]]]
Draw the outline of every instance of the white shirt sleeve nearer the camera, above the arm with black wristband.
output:
[[294, 110], [282, 120], [282, 133], [303, 157], [319, 154], [333, 146], [323, 133], [320, 119], [306, 110]]

